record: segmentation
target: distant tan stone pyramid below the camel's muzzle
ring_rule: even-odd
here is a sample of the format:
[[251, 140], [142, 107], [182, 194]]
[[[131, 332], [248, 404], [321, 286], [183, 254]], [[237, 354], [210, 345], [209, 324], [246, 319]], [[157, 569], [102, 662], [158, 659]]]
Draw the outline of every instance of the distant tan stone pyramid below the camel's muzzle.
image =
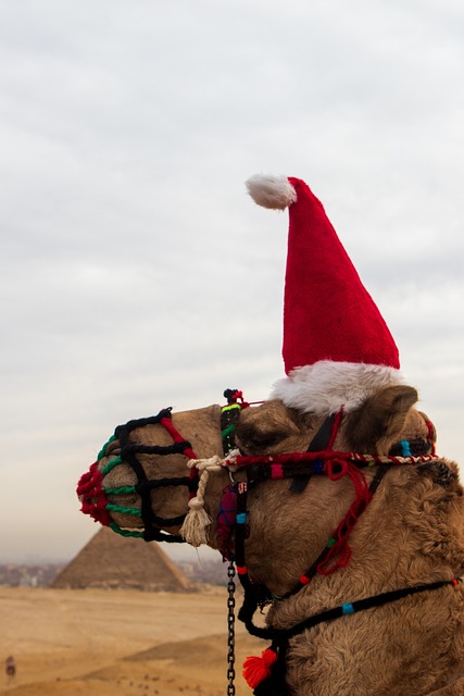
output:
[[92, 536], [50, 586], [149, 592], [188, 592], [195, 588], [155, 542], [125, 538], [108, 527]]

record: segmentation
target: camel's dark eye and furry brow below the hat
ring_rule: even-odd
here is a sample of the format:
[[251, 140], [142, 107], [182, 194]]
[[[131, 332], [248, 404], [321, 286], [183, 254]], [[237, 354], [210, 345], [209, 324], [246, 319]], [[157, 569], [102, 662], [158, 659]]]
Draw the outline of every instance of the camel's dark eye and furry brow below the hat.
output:
[[258, 408], [242, 411], [236, 431], [236, 444], [246, 455], [267, 455], [269, 449], [299, 434], [292, 411], [281, 401], [265, 401]]

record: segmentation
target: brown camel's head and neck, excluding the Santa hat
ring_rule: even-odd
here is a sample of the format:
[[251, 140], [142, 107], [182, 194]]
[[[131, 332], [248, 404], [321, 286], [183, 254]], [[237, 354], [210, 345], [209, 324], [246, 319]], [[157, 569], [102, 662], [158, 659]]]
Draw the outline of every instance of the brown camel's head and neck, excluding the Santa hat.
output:
[[[116, 428], [98, 463], [83, 476], [83, 509], [123, 534], [160, 538], [165, 530], [167, 537], [178, 538], [189, 505], [190, 511], [201, 508], [208, 515], [204, 540], [228, 556], [237, 554], [239, 525], [231, 525], [225, 542], [218, 524], [223, 494], [248, 480], [247, 580], [251, 593], [266, 588], [269, 639], [289, 632], [280, 648], [281, 681], [275, 686], [268, 674], [258, 684], [251, 680], [254, 693], [459, 696], [464, 694], [463, 488], [456, 464], [431, 453], [435, 430], [416, 401], [414, 388], [390, 385], [341, 415], [329, 450], [314, 455], [326, 470], [335, 462], [333, 476], [312, 470], [309, 480], [305, 452], [325, 419], [277, 399], [240, 410], [235, 431], [240, 455], [231, 452], [228, 459], [220, 406], [131, 421]], [[362, 477], [350, 477], [341, 475], [343, 452], [374, 459], [356, 469]], [[301, 461], [290, 481], [260, 478], [252, 471], [269, 467], [269, 455], [276, 465], [279, 458], [298, 462], [296, 453]], [[206, 481], [200, 476], [201, 505], [193, 495], [197, 467], [209, 474]], [[372, 499], [358, 510], [349, 538], [339, 544], [338, 561], [325, 559], [311, 582], [300, 582], [353, 511], [362, 480], [372, 485], [381, 470]], [[294, 488], [293, 482], [302, 480]], [[155, 521], [145, 532], [139, 515], [147, 496], [142, 500], [134, 490], [139, 486], [141, 492], [143, 482], [152, 515], [146, 510], [145, 517]], [[416, 594], [304, 625], [322, 612], [414, 587]], [[253, 631], [252, 617], [246, 623]]]

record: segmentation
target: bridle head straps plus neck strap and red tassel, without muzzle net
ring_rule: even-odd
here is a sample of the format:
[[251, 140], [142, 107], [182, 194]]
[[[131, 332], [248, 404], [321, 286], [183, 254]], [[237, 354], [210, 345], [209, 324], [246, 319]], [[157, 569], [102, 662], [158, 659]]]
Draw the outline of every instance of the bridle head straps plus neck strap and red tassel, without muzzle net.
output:
[[[225, 393], [225, 396], [227, 396], [227, 393]], [[234, 398], [234, 395], [231, 395], [231, 398]], [[238, 417], [239, 413], [240, 410], [238, 410]], [[237, 423], [237, 410], [235, 414], [235, 422]], [[241, 470], [246, 473], [246, 481], [237, 482], [233, 486], [228, 486], [224, 492], [218, 515], [218, 532], [223, 540], [223, 555], [235, 560], [237, 573], [244, 591], [243, 602], [238, 612], [238, 618], [244, 623], [251, 635], [272, 642], [271, 647], [263, 651], [261, 658], [248, 658], [243, 666], [243, 676], [248, 684], [254, 688], [256, 696], [277, 696], [280, 694], [284, 696], [287, 694], [285, 673], [288, 644], [291, 637], [302, 633], [304, 630], [346, 614], [398, 601], [410, 595], [431, 592], [443, 586], [456, 587], [462, 583], [462, 579], [423, 583], [381, 593], [373, 597], [347, 601], [338, 607], [309, 617], [286, 631], [277, 630], [273, 626], [261, 627], [253, 623], [253, 616], [259, 607], [262, 608], [266, 604], [281, 601], [292, 595], [297, 595], [311, 583], [317, 573], [328, 575], [338, 568], [348, 566], [351, 558], [351, 548], [348, 544], [350, 533], [390, 468], [414, 464], [417, 469], [425, 469], [431, 473], [435, 482], [442, 486], [450, 485], [454, 477], [447, 464], [441, 462], [435, 455], [434, 426], [431, 423], [426, 421], [428, 431], [426, 440], [422, 438], [400, 440], [390, 448], [388, 456], [379, 457], [333, 450], [342, 418], [342, 411], [327, 418], [313, 437], [306, 452], [253, 457], [231, 451], [223, 461], [223, 465], [228, 467], [229, 470], [231, 469], [235, 472]], [[229, 431], [227, 431], [227, 435], [229, 438], [228, 447], [231, 449], [233, 442], [230, 440]], [[224, 449], [227, 451], [226, 448]], [[376, 468], [376, 473], [371, 484], [368, 484], [363, 470], [374, 467]], [[355, 490], [355, 499], [312, 566], [298, 579], [290, 591], [284, 596], [276, 597], [264, 585], [253, 583], [248, 573], [244, 556], [244, 542], [248, 535], [248, 489], [249, 486], [255, 485], [261, 481], [290, 478], [290, 490], [301, 493], [313, 475], [327, 475], [331, 481], [338, 481], [348, 475]], [[235, 515], [234, 495], [236, 496]], [[226, 501], [226, 505], [224, 505], [224, 501]], [[224, 518], [224, 508], [228, 512], [225, 524], [222, 519]], [[228, 527], [228, 535], [224, 527], [226, 530]], [[235, 532], [233, 550], [225, 543], [230, 538], [231, 530]], [[228, 694], [235, 693], [230, 685], [229, 689]]]

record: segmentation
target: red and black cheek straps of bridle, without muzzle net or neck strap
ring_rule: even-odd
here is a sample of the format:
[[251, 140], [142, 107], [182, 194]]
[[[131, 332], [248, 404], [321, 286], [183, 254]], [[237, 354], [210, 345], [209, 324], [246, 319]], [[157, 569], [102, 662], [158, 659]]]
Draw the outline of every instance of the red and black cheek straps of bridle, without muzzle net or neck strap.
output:
[[[390, 450], [396, 455], [390, 453], [385, 457], [333, 450], [331, 447], [342, 418], [342, 410], [328, 417], [314, 435], [305, 452], [262, 456], [242, 456], [231, 452], [223, 462], [225, 467], [233, 469], [235, 472], [241, 470], [246, 474], [244, 482], [241, 481], [234, 485], [237, 498], [235, 524], [234, 526], [230, 524], [229, 510], [228, 526], [229, 534], [231, 534], [233, 530], [235, 531], [233, 557], [244, 589], [244, 601], [239, 612], [239, 619], [243, 621], [248, 631], [253, 635], [261, 635], [260, 630], [252, 622], [252, 617], [259, 606], [262, 607], [273, 600], [290, 597], [309, 585], [316, 574], [329, 575], [338, 568], [348, 566], [351, 558], [351, 548], [348, 544], [349, 536], [390, 468], [402, 464], [429, 465], [434, 462], [438, 464], [438, 457], [435, 456], [431, 438], [428, 443], [422, 439], [401, 440]], [[430, 427], [428, 431], [431, 434]], [[431, 453], [426, 453], [427, 450]], [[400, 452], [402, 456], [399, 456]], [[407, 456], [404, 456], [406, 452]], [[439, 465], [443, 467], [442, 464]], [[376, 468], [376, 473], [371, 483], [368, 483], [363, 470], [374, 467]], [[448, 467], [444, 467], [444, 469], [446, 471], [442, 470], [441, 475], [449, 483], [448, 477], [452, 476], [452, 474]], [[244, 542], [248, 535], [248, 490], [250, 486], [254, 486], [262, 481], [290, 478], [290, 490], [301, 493], [313, 475], [326, 475], [330, 481], [339, 481], [343, 476], [348, 476], [353, 484], [355, 499], [311, 567], [300, 575], [290, 591], [284, 596], [276, 597], [265, 586], [255, 585], [248, 574], [244, 558]], [[231, 487], [228, 486], [225, 495], [229, 507], [231, 505]], [[221, 506], [218, 517], [222, 514], [222, 508], [223, 506]], [[226, 535], [221, 520], [218, 526], [220, 536], [224, 540]], [[230, 548], [226, 545], [223, 546], [223, 555], [226, 558], [231, 556]]]

